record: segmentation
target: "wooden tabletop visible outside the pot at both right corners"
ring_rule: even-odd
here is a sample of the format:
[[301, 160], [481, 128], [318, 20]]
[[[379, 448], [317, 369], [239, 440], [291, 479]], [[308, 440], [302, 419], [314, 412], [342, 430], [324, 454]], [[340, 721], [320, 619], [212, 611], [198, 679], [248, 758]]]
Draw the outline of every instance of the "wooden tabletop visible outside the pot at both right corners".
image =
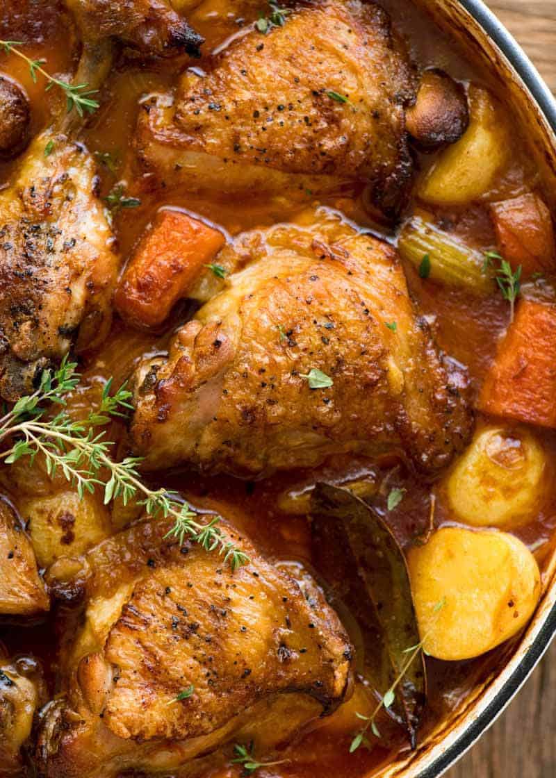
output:
[[[487, 0], [556, 93], [556, 0]], [[556, 778], [556, 642], [446, 778]]]

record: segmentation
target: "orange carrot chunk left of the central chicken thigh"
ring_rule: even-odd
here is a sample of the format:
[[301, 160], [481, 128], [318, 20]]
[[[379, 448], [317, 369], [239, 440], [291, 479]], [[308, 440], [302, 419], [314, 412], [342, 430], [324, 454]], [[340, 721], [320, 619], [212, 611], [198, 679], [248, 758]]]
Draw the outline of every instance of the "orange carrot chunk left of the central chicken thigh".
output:
[[158, 327], [223, 247], [223, 234], [179, 211], [162, 210], [125, 268], [114, 303], [125, 321]]

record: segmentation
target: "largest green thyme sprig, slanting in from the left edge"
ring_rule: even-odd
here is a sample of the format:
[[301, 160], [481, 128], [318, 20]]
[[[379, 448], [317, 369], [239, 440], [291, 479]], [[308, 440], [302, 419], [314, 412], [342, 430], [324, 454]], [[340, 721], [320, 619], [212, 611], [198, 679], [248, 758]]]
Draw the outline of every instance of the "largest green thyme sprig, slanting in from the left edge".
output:
[[[132, 408], [129, 402], [132, 394], [125, 385], [111, 394], [112, 382], [108, 380], [96, 410], [83, 420], [69, 416], [65, 395], [79, 383], [76, 367], [76, 363], [65, 358], [54, 373], [44, 370], [37, 391], [17, 401], [0, 419], [0, 443], [5, 440], [11, 443], [0, 459], [13, 464], [22, 457], [30, 457], [32, 464], [37, 454], [42, 454], [48, 475], [54, 477], [58, 470], [62, 471], [80, 497], [100, 486], [104, 489], [105, 504], [121, 497], [127, 505], [130, 499], [139, 498], [138, 505], [144, 506], [149, 516], [174, 519], [174, 526], [164, 538], [177, 538], [180, 544], [185, 538], [191, 538], [206, 551], [218, 550], [232, 570], [246, 564], [248, 556], [235, 548], [218, 527], [220, 517], [200, 524], [197, 514], [188, 503], [176, 499], [174, 492], [150, 489], [141, 481], [137, 470], [140, 457], [126, 457], [121, 462], [111, 459], [114, 443], [105, 440], [105, 430], [99, 432], [97, 428]], [[46, 415], [50, 403], [62, 406], [58, 414]], [[107, 481], [101, 477], [106, 471]]]

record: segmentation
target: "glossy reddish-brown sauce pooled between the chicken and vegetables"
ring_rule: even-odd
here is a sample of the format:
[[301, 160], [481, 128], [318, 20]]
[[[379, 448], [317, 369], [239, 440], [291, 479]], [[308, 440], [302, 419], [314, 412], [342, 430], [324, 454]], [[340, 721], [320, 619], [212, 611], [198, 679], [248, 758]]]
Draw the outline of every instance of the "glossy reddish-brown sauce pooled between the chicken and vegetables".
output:
[[[229, 16], [223, 19], [218, 13], [223, 0], [214, 0], [208, 11], [195, 12], [191, 23], [207, 38], [206, 51], [223, 45], [228, 37], [241, 34], [240, 19]], [[404, 0], [388, 0], [385, 3], [392, 14], [396, 28], [407, 37], [413, 58], [420, 65], [435, 65], [445, 68], [453, 77], [464, 82], [488, 82], [487, 75], [473, 71], [473, 68], [458, 53], [454, 41], [441, 35], [424, 13]], [[53, 10], [51, 2], [33, 0], [8, 0], [7, 11], [0, 10], [0, 37], [22, 40], [23, 51], [33, 58], [47, 60], [48, 71], [58, 75], [69, 74], [74, 68], [78, 46], [76, 41], [68, 45], [67, 25], [62, 12]], [[195, 63], [203, 68], [203, 61]], [[127, 194], [140, 198], [141, 205], [132, 211], [122, 210], [115, 219], [114, 227], [118, 238], [118, 249], [127, 258], [136, 240], [161, 206], [173, 205], [202, 216], [227, 231], [230, 236], [254, 226], [271, 225], [287, 221], [300, 209], [315, 204], [312, 195], [301, 192], [295, 201], [276, 196], [266, 202], [255, 196], [238, 202], [237, 197], [220, 198], [218, 202], [179, 189], [164, 188], [152, 191], [149, 177], [135, 178], [132, 175], [132, 152], [130, 142], [138, 112], [138, 101], [153, 92], [171, 89], [178, 72], [186, 66], [185, 60], [146, 61], [121, 58], [100, 94], [100, 110], [91, 117], [81, 138], [91, 152], [97, 152], [100, 175], [100, 191], [106, 196], [118, 181], [127, 185]], [[14, 55], [0, 55], [0, 72], [11, 74], [25, 86], [33, 107], [33, 133], [48, 124], [51, 107], [58, 100], [55, 92], [44, 92], [44, 80], [37, 83], [29, 77], [23, 61]], [[526, 145], [519, 133], [515, 134], [515, 149], [512, 149], [514, 163], [504, 180], [498, 182], [501, 196], [518, 195], [524, 184], [535, 184], [536, 173], [527, 162]], [[109, 165], [103, 162], [107, 153], [111, 155]], [[426, 168], [430, 163], [427, 156], [419, 156], [419, 163]], [[112, 168], [112, 169], [111, 169]], [[0, 185], [9, 179], [12, 164], [0, 166]], [[340, 191], [336, 195], [318, 201], [332, 209], [339, 209], [348, 218], [361, 226], [368, 226], [374, 232], [383, 232], [386, 240], [395, 241], [396, 236], [373, 223], [365, 212], [361, 191]], [[414, 205], [410, 206], [412, 211]], [[486, 251], [494, 247], [494, 234], [486, 209], [473, 205], [465, 209], [437, 209], [435, 217], [449, 223], [468, 244]], [[428, 317], [438, 345], [453, 359], [463, 363], [469, 370], [473, 389], [476, 391], [487, 366], [493, 359], [498, 337], [508, 324], [508, 305], [501, 296], [480, 298], [471, 296], [461, 289], [448, 289], [435, 282], [420, 279], [411, 266], [406, 267], [410, 290], [417, 299], [422, 313]], [[74, 400], [87, 404], [94, 401], [99, 379], [114, 376], [114, 384], [125, 380], [134, 363], [146, 352], [164, 350], [171, 332], [191, 315], [191, 307], [181, 304], [174, 310], [172, 326], [160, 335], [147, 335], [126, 330], [120, 321], [114, 321], [113, 332], [107, 345], [97, 354], [89, 355], [84, 361], [83, 387]], [[479, 419], [479, 424], [481, 420]], [[117, 429], [113, 430], [114, 433]], [[120, 429], [123, 433], [123, 429]], [[550, 457], [556, 461], [556, 436], [550, 432], [539, 432]], [[318, 471], [292, 471], [259, 482], [246, 482], [227, 476], [209, 478], [188, 471], [178, 471], [157, 476], [157, 485], [179, 490], [192, 505], [200, 510], [223, 513], [238, 527], [251, 535], [262, 552], [276, 560], [301, 562], [311, 569], [311, 535], [306, 517], [301, 513], [290, 513], [287, 509], [287, 494], [299, 495], [316, 480], [341, 482], [350, 478], [368, 478], [375, 484], [376, 510], [388, 520], [400, 544], [406, 547], [418, 538], [424, 538], [435, 527], [453, 521], [441, 488], [424, 483], [409, 468], [397, 461], [373, 462], [362, 457], [335, 457]], [[535, 552], [537, 561], [547, 558], [551, 548], [551, 536], [556, 524], [556, 478], [552, 478], [552, 493], [547, 499], [537, 520], [516, 530], [516, 534]], [[388, 490], [397, 486], [406, 489], [406, 497], [395, 510], [386, 510]], [[388, 487], [388, 488], [387, 488]], [[435, 510], [431, 512], [431, 494], [435, 495]], [[13, 497], [16, 497], [14, 495]], [[55, 614], [53, 614], [55, 615]], [[0, 628], [0, 640], [10, 653], [33, 654], [44, 661], [55, 691], [55, 627], [52, 616], [45, 624], [30, 628]], [[501, 649], [477, 660], [461, 663], [442, 663], [428, 658], [429, 705], [428, 720], [422, 733], [427, 731], [439, 717], [466, 695], [481, 678], [485, 678], [496, 664], [501, 653], [511, 650], [511, 642]], [[361, 748], [353, 755], [348, 754], [353, 737], [353, 724], [342, 729], [341, 712], [331, 720], [321, 720], [315, 730], [305, 734], [301, 741], [291, 745], [284, 752], [290, 759], [275, 768], [261, 769], [261, 778], [270, 776], [291, 776], [291, 778], [353, 778], [368, 773], [371, 769], [389, 762], [399, 748], [407, 748], [403, 734], [391, 728], [387, 722], [378, 721], [385, 737], [371, 752]], [[219, 776], [238, 776], [240, 769], [230, 767], [218, 773]]]

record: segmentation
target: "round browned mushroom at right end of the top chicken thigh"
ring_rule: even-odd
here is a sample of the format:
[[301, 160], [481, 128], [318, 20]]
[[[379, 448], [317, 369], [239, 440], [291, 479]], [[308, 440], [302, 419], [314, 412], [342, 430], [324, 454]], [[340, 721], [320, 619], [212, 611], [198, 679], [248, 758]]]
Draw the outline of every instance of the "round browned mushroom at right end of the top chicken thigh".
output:
[[463, 86], [442, 70], [424, 72], [415, 104], [406, 110], [406, 129], [421, 151], [455, 143], [469, 124]]

